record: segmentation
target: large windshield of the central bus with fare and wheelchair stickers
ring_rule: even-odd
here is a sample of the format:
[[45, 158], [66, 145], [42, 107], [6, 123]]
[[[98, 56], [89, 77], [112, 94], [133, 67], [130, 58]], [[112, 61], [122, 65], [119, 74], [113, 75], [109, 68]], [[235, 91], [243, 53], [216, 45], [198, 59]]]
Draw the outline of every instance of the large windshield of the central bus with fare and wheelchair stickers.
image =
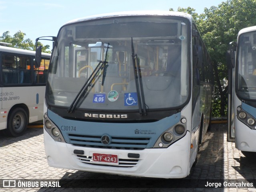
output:
[[69, 108], [77, 101], [76, 108], [106, 111], [139, 110], [140, 104], [144, 110], [184, 106], [190, 27], [176, 16], [66, 24], [52, 53], [46, 104]]

